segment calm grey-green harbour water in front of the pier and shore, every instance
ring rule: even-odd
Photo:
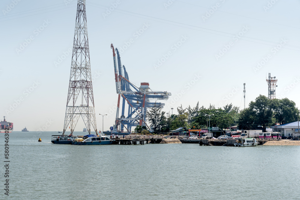
[[[52,144],[57,134],[10,133],[7,199],[300,199],[299,146]]]

